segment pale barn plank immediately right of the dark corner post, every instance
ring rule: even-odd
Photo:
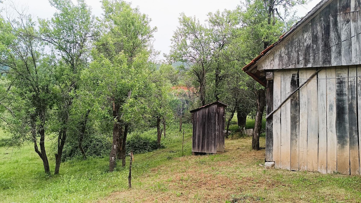
[[[281,104],[281,72],[274,72],[273,77],[273,108]],[[275,168],[280,168],[281,160],[281,109],[273,113],[273,160]]]

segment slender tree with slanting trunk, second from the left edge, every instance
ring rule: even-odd
[[[71,109],[79,87],[81,70],[87,67],[90,40],[95,36],[94,19],[83,0],[50,0],[58,12],[50,21],[40,20],[42,39],[51,46],[60,66],[56,70],[56,84],[60,91],[57,103],[58,144],[55,154],[55,174],[59,173],[61,155],[67,131],[71,125]]]

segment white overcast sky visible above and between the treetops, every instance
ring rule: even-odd
[[[5,4],[6,4],[5,0]],[[28,6],[28,14],[40,18],[51,18],[55,9],[48,0],[13,0],[18,6]],[[73,0],[75,2],[75,0]],[[101,16],[100,0],[85,0],[92,8],[92,13]],[[297,15],[304,16],[320,0],[311,0],[305,6],[296,8]],[[184,12],[188,16],[195,15],[201,22],[206,19],[206,14],[217,10],[234,9],[240,5],[239,0],[128,0],[132,7],[138,6],[142,13],[151,19],[151,26],[156,26],[154,48],[161,52],[159,59],[164,59],[163,54],[168,54],[170,39],[173,31],[177,29],[179,14]]]

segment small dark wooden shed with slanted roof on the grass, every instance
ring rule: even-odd
[[[191,110],[193,117],[192,154],[225,151],[225,107],[214,102]]]

